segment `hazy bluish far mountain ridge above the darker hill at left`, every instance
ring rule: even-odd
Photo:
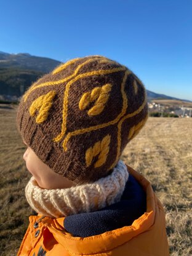
[[[0,52],[0,68],[20,68],[49,73],[61,62],[52,58],[37,57],[30,54],[7,54]]]

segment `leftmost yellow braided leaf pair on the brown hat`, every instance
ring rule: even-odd
[[[44,122],[47,119],[50,107],[52,106],[52,100],[55,97],[55,94],[55,90],[52,90],[48,92],[48,94],[44,94],[36,98],[36,100],[34,100],[31,103],[30,115],[34,116],[36,111],[39,111],[39,114],[36,117],[37,124],[41,124],[41,122]]]

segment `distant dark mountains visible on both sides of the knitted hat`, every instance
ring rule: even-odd
[[[0,99],[20,97],[39,77],[58,66],[61,62],[51,58],[37,57],[27,53],[7,54],[0,51]],[[147,91],[148,101],[180,100],[164,94]],[[190,100],[183,100],[190,102]]]

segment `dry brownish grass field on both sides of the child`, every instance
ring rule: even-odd
[[[0,255],[16,255],[32,210],[25,200],[30,175],[16,110],[0,108]],[[166,211],[170,255],[192,255],[192,118],[149,118],[122,159],[153,184]]]

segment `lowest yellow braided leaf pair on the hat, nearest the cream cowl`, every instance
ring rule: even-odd
[[[87,167],[90,166],[93,158],[98,154],[98,160],[97,162],[95,162],[94,167],[100,167],[106,162],[106,158],[110,150],[110,140],[111,136],[108,134],[101,141],[96,142],[93,147],[88,148],[88,150],[86,151]]]

